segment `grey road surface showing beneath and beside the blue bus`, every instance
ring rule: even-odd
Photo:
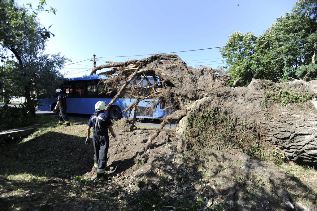
[[[0,106],[3,106],[3,103],[0,103]],[[9,104],[9,106],[13,107],[15,104]],[[17,105],[18,106],[18,105]],[[54,115],[53,111],[36,111],[36,114],[46,114],[46,115]],[[71,118],[76,118],[76,119],[83,119],[87,120],[89,119],[90,115],[86,114],[67,114]],[[141,120],[140,122],[136,122],[136,125],[139,127],[154,127],[158,128],[160,124],[160,121],[158,119],[144,119]],[[166,129],[175,129],[175,124],[168,124],[165,125]]]

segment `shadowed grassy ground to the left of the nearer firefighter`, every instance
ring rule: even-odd
[[[48,132],[19,144],[2,145],[1,210],[86,209],[93,199],[81,198],[82,187],[74,188],[76,185],[69,179],[90,172],[93,157],[93,146],[86,146],[83,137],[58,132]],[[130,168],[130,163],[125,163],[125,167]]]

